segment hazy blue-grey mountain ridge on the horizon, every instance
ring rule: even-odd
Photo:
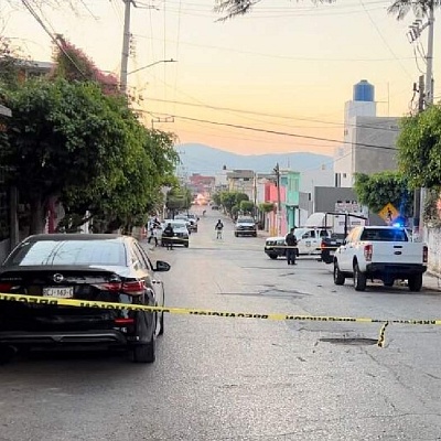
[[[180,153],[182,165],[186,173],[213,175],[225,165],[228,170],[246,169],[259,173],[270,173],[279,163],[281,169],[292,169],[299,172],[320,169],[330,164],[332,157],[306,152],[237,154],[215,149],[205,144],[184,143],[175,147]]]

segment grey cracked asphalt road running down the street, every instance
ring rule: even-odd
[[[169,306],[257,314],[437,319],[440,293],[335,287],[235,238],[207,209],[189,248],[150,250]],[[166,315],[153,365],[39,353],[0,366],[0,440],[441,440],[440,326]]]

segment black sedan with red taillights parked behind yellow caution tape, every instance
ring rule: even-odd
[[[0,292],[61,299],[164,305],[164,289],[139,243],[128,236],[30,236],[0,267]],[[135,362],[155,359],[163,313],[0,301],[1,346],[89,345],[123,347]]]

